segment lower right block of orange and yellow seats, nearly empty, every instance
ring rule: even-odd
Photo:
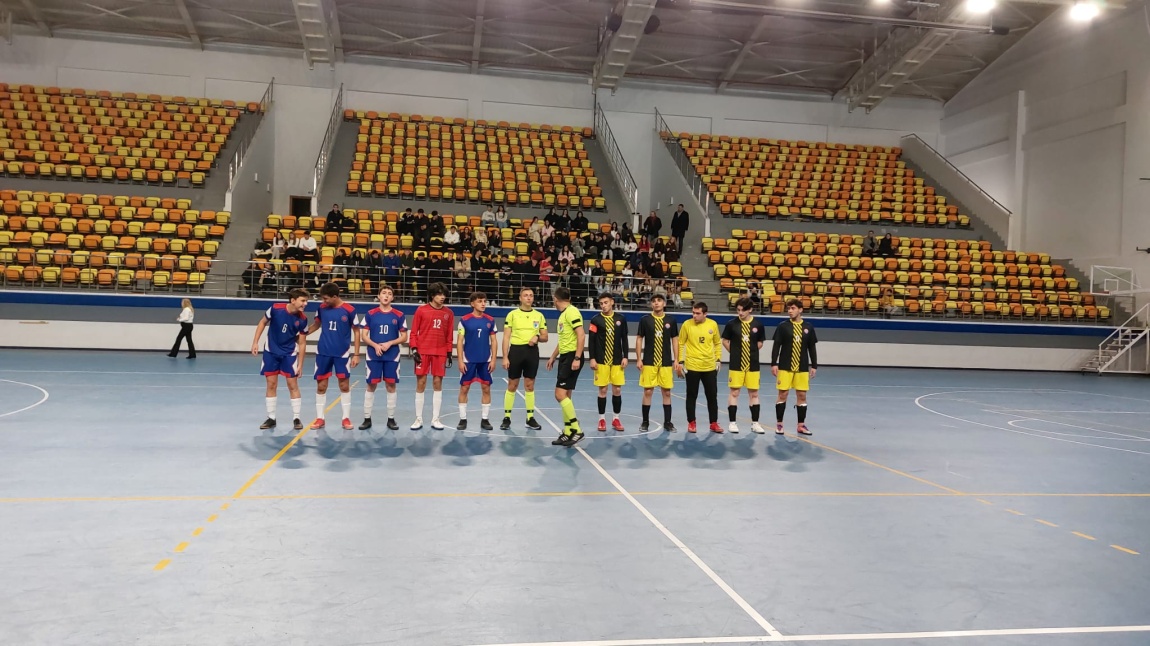
[[[775,314],[788,298],[814,312],[879,314],[890,290],[889,305],[911,316],[1111,316],[1049,255],[995,251],[986,241],[900,237],[894,255],[877,257],[862,254],[861,236],[734,230],[704,238],[702,248],[731,302],[758,284]]]

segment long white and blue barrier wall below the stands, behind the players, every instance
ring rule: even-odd
[[[155,297],[90,292],[0,292],[0,347],[167,351],[183,295]],[[195,346],[202,352],[247,352],[263,310],[274,300],[192,297]],[[350,301],[360,313],[373,303]],[[312,314],[317,301],[308,306]],[[411,316],[415,306],[397,303]],[[466,306],[452,306],[457,315]],[[489,307],[501,322],[509,308]],[[553,308],[540,308],[549,320]],[[583,310],[584,318],[593,315]],[[644,312],[623,310],[634,325]],[[689,314],[672,314],[684,321]],[[712,313],[720,328],[733,317]],[[875,366],[997,370],[1076,371],[1096,352],[1111,328],[1041,323],[808,317],[819,332],[825,366]],[[768,330],[780,321],[760,316]],[[632,328],[634,329],[634,328]],[[314,339],[312,337],[312,343]],[[555,341],[543,346],[549,354]],[[634,344],[631,344],[634,347]],[[312,351],[314,352],[314,351]],[[769,344],[762,357],[769,359]]]

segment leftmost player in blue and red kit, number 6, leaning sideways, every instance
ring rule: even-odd
[[[263,430],[276,428],[276,386],[279,375],[288,382],[291,393],[291,413],[296,430],[301,430],[299,421],[301,400],[299,397],[299,375],[304,370],[304,354],[307,348],[307,315],[304,309],[312,298],[306,290],[292,290],[288,293],[288,302],[277,302],[263,313],[263,318],[255,326],[255,338],[252,339],[252,355],[260,353],[260,337],[264,328],[268,339],[263,347],[263,368],[260,374],[267,379],[263,391],[268,418],[260,424]]]

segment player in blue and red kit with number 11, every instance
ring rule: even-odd
[[[360,337],[353,334],[355,328],[355,308],[339,298],[339,285],[327,283],[320,287],[320,299],[323,305],[315,314],[315,320],[307,328],[307,333],[320,330],[320,344],[315,354],[315,422],[312,426],[322,429],[328,408],[328,379],[335,375],[339,380],[339,402],[343,405],[344,430],[352,430],[352,393],[351,368],[359,366]],[[355,351],[352,352],[352,343]]]

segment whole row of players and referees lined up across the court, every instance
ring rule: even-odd
[[[489,420],[491,409],[492,374],[496,370],[499,353],[499,326],[496,320],[486,314],[486,297],[482,292],[469,298],[471,312],[461,316],[457,323],[455,315],[446,307],[447,290],[439,283],[428,287],[425,305],[416,308],[411,325],[405,314],[391,306],[394,298],[390,286],[379,287],[378,307],[366,315],[358,315],[355,309],[344,302],[339,295],[339,286],[329,283],[320,289],[322,303],[315,317],[308,323],[305,309],[310,294],[305,290],[293,290],[288,294],[288,302],[275,303],[264,312],[255,329],[252,340],[252,354],[261,352],[262,375],[267,380],[264,393],[268,417],[261,429],[274,429],[277,408],[277,386],[283,376],[291,395],[293,428],[302,430],[300,421],[301,398],[299,376],[302,372],[306,354],[306,339],[319,331],[319,344],[315,357],[316,382],[316,418],[310,428],[323,429],[325,425],[328,383],[335,375],[340,391],[343,407],[343,428],[352,430],[351,421],[351,368],[360,362],[362,347],[367,346],[367,392],[363,397],[363,423],[360,430],[371,428],[371,413],[375,393],[381,383],[386,392],[388,422],[391,430],[399,428],[394,420],[398,400],[397,384],[400,374],[400,347],[406,344],[415,367],[415,420],[412,430],[423,428],[424,392],[428,376],[431,377],[432,405],[431,428],[444,428],[439,420],[443,403],[443,379],[453,359],[458,361],[460,372],[459,390],[459,424],[458,429],[467,429],[467,402],[473,384],[480,384],[482,390],[482,417],[480,426],[492,430]],[[552,444],[573,446],[583,439],[583,432],[575,413],[570,395],[578,382],[583,368],[584,355],[593,371],[595,386],[598,389],[599,423],[598,430],[607,430],[606,403],[607,392],[612,391],[613,420],[611,426],[622,431],[619,418],[622,412],[622,385],[626,380],[628,366],[629,326],[627,320],[614,310],[614,298],[604,294],[599,298],[600,312],[586,325],[578,308],[570,305],[570,292],[559,287],[553,293],[554,308],[559,313],[555,323],[558,343],[546,360],[546,370],[558,367],[555,401],[564,413],[564,431]],[[540,430],[535,420],[535,379],[538,375],[542,357],[539,344],[549,339],[547,321],[543,313],[534,308],[535,293],[524,287],[520,292],[519,307],[507,313],[503,325],[503,368],[507,371],[507,390],[504,393],[504,418],[501,430],[511,429],[511,415],[514,409],[520,382],[523,382],[523,400],[527,408],[526,425]],[[751,430],[765,432],[759,423],[759,351],[767,340],[762,322],[753,316],[754,303],[743,299],[736,303],[737,317],[733,318],[720,332],[718,324],[707,317],[707,305],[692,303],[691,317],[680,325],[665,310],[666,300],[656,294],[650,301],[651,312],[644,315],[635,333],[635,363],[639,372],[639,386],[643,389],[643,421],[639,430],[650,429],[651,402],[658,387],[662,395],[662,428],[675,431],[672,422],[670,393],[674,378],[687,380],[687,422],[688,431],[696,432],[695,407],[702,385],[707,401],[710,430],[723,432],[719,425],[718,375],[722,367],[721,351],[730,355],[728,376],[728,413],[730,424],[728,431],[739,431],[736,422],[739,392],[746,390],[751,412]],[[783,416],[791,390],[796,391],[796,410],[798,414],[797,432],[811,434],[806,426],[806,393],[810,380],[818,368],[818,353],[814,328],[803,320],[803,305],[798,300],[787,303],[788,321],[780,323],[772,337],[770,372],[776,379],[777,398],[775,401],[775,432],[783,434]],[[454,351],[454,354],[453,354]]]

